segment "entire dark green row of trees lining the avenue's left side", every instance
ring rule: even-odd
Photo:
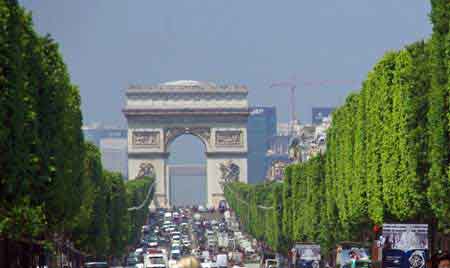
[[[127,208],[152,179],[124,183],[102,169],[58,45],[17,1],[0,0],[0,28],[0,238],[120,255],[148,213]]]

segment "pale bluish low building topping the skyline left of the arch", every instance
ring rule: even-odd
[[[92,124],[82,127],[84,139],[100,147],[100,140],[103,138],[126,138],[128,130],[117,126],[105,126],[102,124]]]

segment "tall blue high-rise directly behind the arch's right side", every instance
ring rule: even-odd
[[[267,150],[277,132],[275,107],[251,107],[247,121],[248,182],[264,181],[268,168]]]

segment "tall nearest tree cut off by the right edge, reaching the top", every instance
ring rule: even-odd
[[[445,228],[450,229],[450,177],[449,173],[449,71],[448,35],[450,3],[431,1],[433,34],[430,41],[431,91],[429,94],[428,132],[430,186],[428,198],[431,207]]]

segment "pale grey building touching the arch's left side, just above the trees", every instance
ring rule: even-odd
[[[124,178],[127,178],[127,149],[127,138],[102,138],[100,140],[100,152],[103,168],[113,172],[120,172]]]

